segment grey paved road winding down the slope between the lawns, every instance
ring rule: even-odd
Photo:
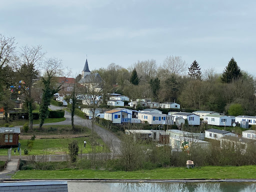
[[[51,110],[56,110],[56,109],[63,109],[64,107],[50,105],[49,108]],[[64,120],[64,121],[44,123],[43,125],[66,125],[66,124],[71,124],[71,114],[70,114],[70,112],[65,110],[64,117],[66,118],[66,120]],[[74,115],[74,124],[75,125],[86,126],[90,129],[92,129],[91,120],[83,119],[83,118],[81,118],[79,116],[76,116],[76,115]],[[94,131],[108,145],[108,147],[112,151],[112,153],[120,153],[120,143],[121,143],[121,141],[112,132],[110,132],[110,131],[108,131],[108,130],[100,127],[100,126],[97,126],[97,125],[94,125]]]

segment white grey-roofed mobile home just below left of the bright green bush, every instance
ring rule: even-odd
[[[230,116],[221,114],[207,114],[203,116],[203,120],[207,121],[207,124],[217,125],[217,126],[231,126],[232,120]]]

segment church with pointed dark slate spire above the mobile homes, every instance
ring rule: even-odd
[[[96,72],[91,74],[87,62],[87,58],[84,64],[84,67],[82,69],[81,79],[79,80],[79,83],[83,86],[85,86],[90,91],[96,91],[99,92],[102,87],[102,79],[100,75]]]

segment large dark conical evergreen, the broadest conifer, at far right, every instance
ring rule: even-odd
[[[228,62],[225,70],[222,73],[221,80],[223,82],[231,82],[233,79],[237,79],[242,75],[240,67],[237,65],[236,61],[232,57]]]

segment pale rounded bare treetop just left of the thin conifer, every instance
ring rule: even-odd
[[[163,68],[169,74],[182,75],[187,70],[186,61],[182,60],[181,56],[167,56],[163,61]]]

